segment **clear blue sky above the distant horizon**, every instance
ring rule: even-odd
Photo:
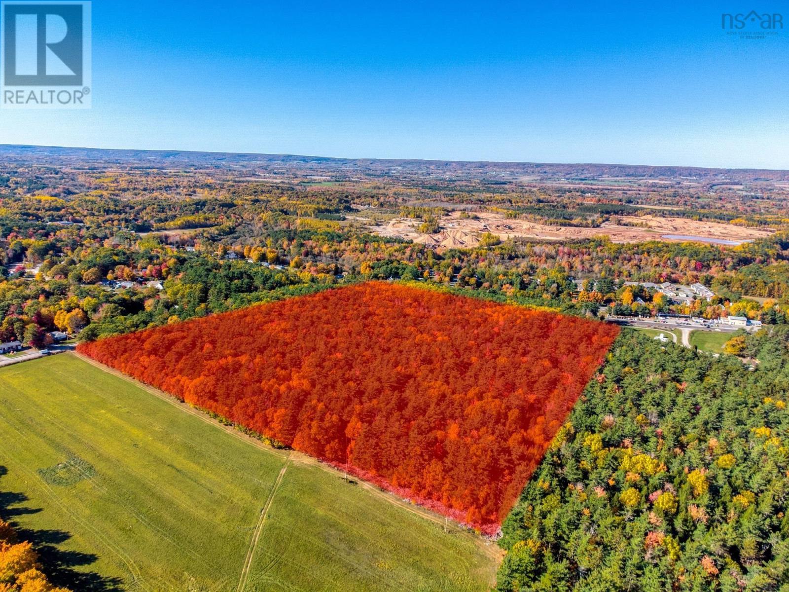
[[[789,4],[545,4],[95,0],[92,110],[0,143],[789,168]]]

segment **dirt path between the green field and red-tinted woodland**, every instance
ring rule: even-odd
[[[326,463],[321,463],[320,460],[312,458],[312,456],[305,455],[302,452],[295,451],[295,450],[278,450],[276,448],[271,448],[267,444],[264,444],[260,440],[256,440],[255,438],[246,436],[245,434],[239,432],[235,429],[232,425],[224,425],[215,419],[209,417],[203,411],[195,409],[194,407],[190,407],[189,404],[183,403],[180,399],[176,399],[172,395],[168,395],[166,392],[160,391],[158,388],[153,388],[148,384],[141,383],[139,380],[135,380],[132,377],[126,376],[122,372],[118,372],[118,370],[114,368],[110,368],[109,366],[100,364],[96,362],[92,358],[88,358],[88,356],[84,356],[83,354],[78,353],[77,351],[70,352],[83,360],[84,362],[88,362],[88,364],[94,365],[96,368],[102,369],[104,372],[108,372],[116,377],[122,378],[127,382],[135,384],[137,387],[142,388],[144,391],[151,393],[155,397],[162,399],[166,403],[169,403],[173,407],[177,407],[181,411],[185,411],[185,413],[192,414],[196,418],[199,418],[200,421],[205,422],[209,425],[213,425],[217,429],[221,429],[223,432],[230,434],[230,436],[241,440],[242,442],[246,442],[256,448],[259,448],[262,451],[267,452],[268,454],[279,456],[279,458],[286,460],[288,463],[298,463],[302,465],[310,465],[316,466],[321,470],[325,470],[337,478],[342,478],[342,472],[335,469],[335,467],[331,465],[327,465]],[[69,355],[69,354],[66,354]],[[421,518],[430,520],[433,523],[439,524],[441,526],[444,525],[446,519],[443,515],[436,514],[432,511],[429,511],[426,508],[422,508],[421,506],[417,506],[412,504],[408,500],[402,500],[398,496],[394,496],[383,489],[376,487],[376,485],[372,485],[372,483],[368,483],[367,481],[363,481],[361,479],[357,480],[357,485],[361,486],[363,489],[366,489],[370,493],[375,496],[380,497],[380,499],[387,501],[389,504],[397,506],[398,508],[402,508],[406,511],[409,511],[412,514],[416,514]],[[485,555],[491,558],[491,560],[495,561],[496,565],[498,565],[504,556],[504,550],[496,545],[493,541],[488,541],[488,539],[478,537],[475,534],[472,534],[469,530],[459,528],[455,526],[455,530],[450,530],[453,536],[465,538],[466,540],[472,541],[474,545],[477,545],[477,548],[480,549]]]

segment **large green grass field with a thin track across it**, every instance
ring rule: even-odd
[[[495,577],[468,534],[73,354],[0,369],[0,434],[0,515],[75,592],[462,592]]]

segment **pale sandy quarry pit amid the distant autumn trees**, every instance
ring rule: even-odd
[[[657,216],[621,216],[630,223],[641,223],[647,227],[622,226],[615,223],[604,223],[597,228],[558,227],[533,223],[527,220],[506,219],[501,214],[481,212],[478,219],[463,219],[460,212],[452,212],[440,220],[441,231],[438,234],[422,234],[417,231],[418,220],[398,218],[370,227],[370,230],[381,236],[406,238],[424,245],[440,247],[473,247],[479,244],[479,237],[484,232],[497,234],[499,238],[538,238],[542,240],[568,240],[574,238],[592,238],[607,235],[612,242],[644,242],[663,240],[682,242],[692,238],[706,239],[702,242],[719,242],[720,244],[739,244],[764,238],[774,230],[761,228],[739,227],[733,224],[716,222],[699,222],[684,218],[662,218]],[[688,238],[667,238],[676,235]]]

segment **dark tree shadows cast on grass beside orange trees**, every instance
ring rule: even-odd
[[[8,470],[0,465],[0,478]],[[2,485],[0,485],[2,487]],[[42,530],[24,528],[19,522],[20,516],[36,514],[42,508],[31,508],[28,496],[24,493],[14,493],[0,490],[0,518],[6,520],[17,531],[20,541],[30,541],[39,554],[43,571],[51,583],[56,586],[65,586],[74,592],[121,592],[123,581],[119,578],[107,578],[93,571],[83,571],[77,568],[93,564],[98,556],[93,553],[82,553],[61,549],[60,545],[71,538],[65,530]]]

